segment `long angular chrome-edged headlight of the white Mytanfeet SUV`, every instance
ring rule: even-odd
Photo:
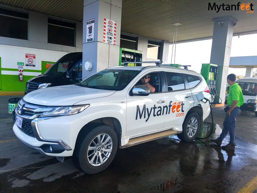
[[[52,117],[52,116],[67,116],[74,115],[84,111],[90,105],[75,105],[75,106],[57,106],[53,108],[48,108],[48,111],[43,112],[39,117]],[[44,111],[44,110],[43,110]]]

